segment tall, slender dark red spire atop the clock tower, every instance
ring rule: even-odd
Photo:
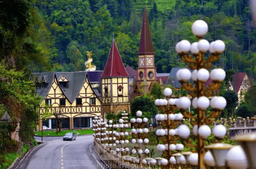
[[[143,22],[141,28],[141,40],[139,42],[138,54],[155,54],[151,39],[146,7],[144,7]]]

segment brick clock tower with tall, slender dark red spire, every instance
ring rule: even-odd
[[[156,82],[155,51],[151,39],[147,10],[144,7],[141,39],[139,42],[138,67],[136,86],[143,86],[145,92],[150,90],[153,82]],[[147,83],[145,83],[147,82]]]

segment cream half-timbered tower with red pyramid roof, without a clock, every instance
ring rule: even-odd
[[[109,57],[101,76],[103,117],[106,113],[130,111],[129,75],[113,39]]]

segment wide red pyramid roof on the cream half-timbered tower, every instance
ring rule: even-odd
[[[129,77],[114,39],[109,51],[109,57],[107,58],[105,69],[101,77]]]

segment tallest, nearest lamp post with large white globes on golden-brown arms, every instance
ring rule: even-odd
[[[203,36],[208,32],[208,25],[202,20],[197,20],[192,25],[192,32],[198,37],[198,42],[192,44],[187,40],[182,40],[177,43],[175,49],[179,54],[182,61],[189,64],[189,68],[193,69],[192,73],[189,69],[180,69],[176,77],[181,83],[181,86],[185,90],[190,91],[190,96],[194,98],[192,100],[192,106],[197,110],[197,117],[191,116],[190,112],[186,110],[190,107],[191,102],[189,98],[181,97],[177,101],[177,107],[183,113],[185,118],[195,119],[191,121],[193,126],[197,125],[198,129],[198,168],[204,169],[204,155],[205,155],[205,139],[210,135],[209,127],[207,125],[212,124],[213,119],[221,114],[226,106],[226,100],[223,97],[213,97],[212,91],[217,90],[221,82],[225,79],[226,73],[223,69],[213,69],[211,73],[207,69],[212,67],[212,62],[217,61],[225,49],[225,44],[221,40],[216,40],[209,43],[206,39],[202,39]],[[208,58],[205,55],[208,53]],[[191,54],[189,54],[189,52]],[[192,77],[194,86],[188,83]],[[209,77],[213,80],[209,88],[205,88],[204,84],[208,81]],[[214,111],[211,112],[210,116],[206,116],[206,108],[212,106]],[[187,130],[180,130],[185,132]],[[211,130],[210,130],[211,132]],[[186,145],[189,145],[184,141]]]

